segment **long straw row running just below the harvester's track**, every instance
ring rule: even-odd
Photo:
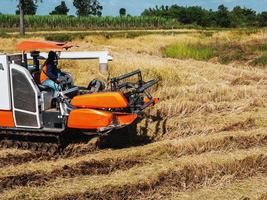
[[[17,176],[32,172],[51,173],[54,170],[62,169],[65,165],[73,166],[77,163],[105,160],[146,160],[159,159],[161,156],[169,155],[181,157],[191,154],[201,154],[209,151],[232,151],[267,143],[267,134],[264,129],[253,131],[220,132],[208,136],[191,136],[184,139],[165,140],[153,143],[144,147],[129,148],[127,151],[110,150],[93,155],[84,155],[78,158],[64,158],[56,161],[40,161],[22,163],[16,166],[4,167],[0,171],[0,178],[7,176]]]

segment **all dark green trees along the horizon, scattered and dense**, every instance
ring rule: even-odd
[[[35,15],[38,0],[20,0],[23,3],[24,15]],[[45,0],[39,0],[45,1]],[[77,16],[102,16],[103,6],[98,0],[73,0]],[[51,11],[50,15],[67,15],[69,8],[65,1]],[[20,9],[16,10],[20,14]],[[119,10],[120,16],[126,16],[126,9]],[[171,6],[156,6],[145,9],[142,16],[162,17],[175,19],[180,24],[195,24],[203,27],[263,27],[267,26],[267,12],[257,13],[255,10],[236,6],[229,10],[224,5],[220,5],[216,11],[207,10],[200,6],[183,7],[177,4]]]

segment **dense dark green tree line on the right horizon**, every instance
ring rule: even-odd
[[[158,16],[175,19],[181,24],[195,24],[202,27],[263,27],[267,26],[267,12],[236,6],[229,10],[220,5],[216,11],[200,6],[156,6],[145,9],[142,16]]]

